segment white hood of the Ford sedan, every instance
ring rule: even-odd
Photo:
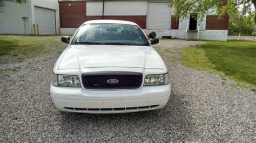
[[[132,67],[164,69],[159,54],[149,46],[69,45],[58,69]]]

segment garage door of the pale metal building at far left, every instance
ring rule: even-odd
[[[39,34],[56,34],[55,11],[35,6],[35,24],[38,24]]]

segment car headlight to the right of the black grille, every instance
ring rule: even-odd
[[[169,74],[146,75],[144,86],[150,85],[166,85],[170,83]]]

